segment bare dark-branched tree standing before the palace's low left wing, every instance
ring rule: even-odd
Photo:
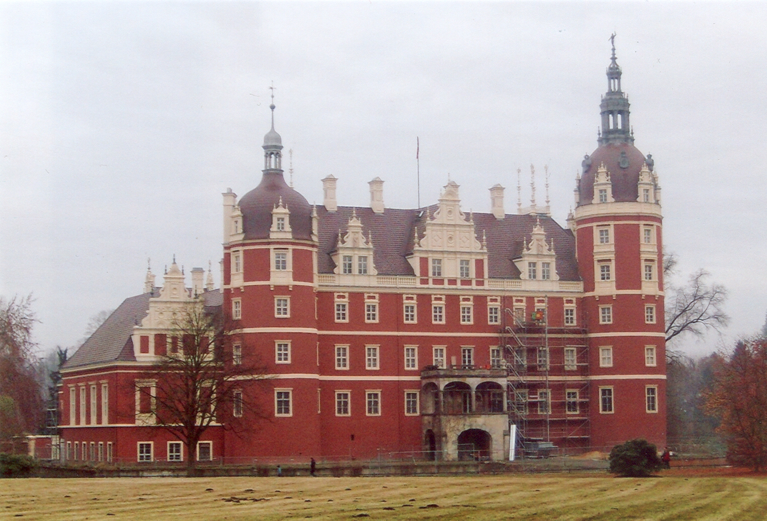
[[[235,338],[220,310],[206,309],[197,298],[176,312],[166,352],[136,381],[137,418],[183,442],[189,476],[195,474],[196,447],[209,427],[217,424],[240,434],[262,419],[258,395],[265,368],[232,353]]]

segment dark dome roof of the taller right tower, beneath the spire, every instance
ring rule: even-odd
[[[625,156],[628,165],[621,167],[621,156]],[[636,201],[639,196],[637,183],[639,182],[639,171],[645,162],[644,154],[637,150],[637,147],[628,143],[609,143],[598,147],[589,157],[591,165],[582,176],[580,184],[580,203],[591,204],[594,199],[594,176],[597,175],[597,169],[604,163],[607,172],[610,173],[610,179],[613,182],[613,199],[616,202]]]

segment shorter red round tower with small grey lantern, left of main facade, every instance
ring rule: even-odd
[[[223,194],[222,272],[223,310],[234,329],[232,362],[271,378],[243,382],[253,386],[259,407],[243,422],[248,436],[231,436],[227,444],[253,456],[317,455],[317,214],[285,183],[273,95],[269,107],[261,183],[239,202],[231,190]]]

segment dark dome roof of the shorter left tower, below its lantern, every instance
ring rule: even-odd
[[[266,170],[258,184],[240,199],[242,228],[245,239],[268,239],[272,228],[272,209],[279,203],[290,210],[290,226],[294,239],[311,239],[311,205],[293,190],[282,177],[281,170]]]

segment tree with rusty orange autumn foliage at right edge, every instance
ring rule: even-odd
[[[731,463],[767,467],[767,339],[739,341],[731,354],[716,355],[706,412],[721,422]]]

